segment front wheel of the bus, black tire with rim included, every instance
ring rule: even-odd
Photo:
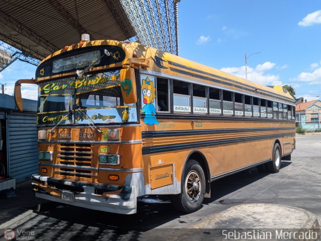
[[[200,164],[190,159],[185,167],[181,181],[181,193],[172,196],[173,206],[181,212],[191,213],[199,210],[205,195],[205,175]]]

